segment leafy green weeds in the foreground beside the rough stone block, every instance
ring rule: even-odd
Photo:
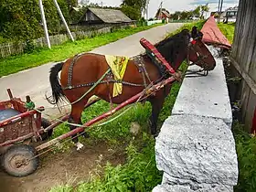
[[[102,177],[93,177],[91,182],[80,184],[76,191],[150,191],[161,182],[162,173],[155,167],[155,141],[143,134],[140,151],[133,141],[126,148],[127,163],[124,165],[105,165]]]

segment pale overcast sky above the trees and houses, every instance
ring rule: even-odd
[[[194,9],[197,5],[205,5],[209,3],[210,11],[218,10],[219,0],[149,0],[149,17],[154,17],[156,10],[158,9],[161,1],[163,1],[163,7],[169,10],[171,13],[175,11],[183,11]],[[91,0],[91,3],[98,3],[101,5],[112,5],[119,6],[122,3],[122,0]],[[239,4],[239,0],[223,0],[223,9],[230,6],[235,6]]]

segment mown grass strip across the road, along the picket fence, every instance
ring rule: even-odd
[[[112,33],[102,34],[96,37],[87,37],[75,42],[66,42],[62,45],[54,46],[51,49],[40,48],[29,54],[22,54],[18,56],[11,56],[6,59],[0,59],[0,77],[16,73],[24,69],[37,67],[48,62],[67,59],[80,52],[90,51],[93,48],[103,46],[120,38],[127,37],[159,25],[162,24],[156,24],[150,27],[144,26],[119,29]]]

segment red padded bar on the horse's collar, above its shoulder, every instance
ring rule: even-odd
[[[151,53],[155,55],[155,58],[159,59],[162,64],[170,71],[170,73],[175,74],[176,71],[173,69],[170,64],[165,60],[165,58],[159,53],[159,51],[152,45],[148,40],[142,38],[140,40],[141,45],[146,49],[149,50]]]

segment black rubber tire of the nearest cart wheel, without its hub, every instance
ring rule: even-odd
[[[10,160],[16,155],[22,155],[27,159],[31,159],[32,157],[37,155],[37,150],[33,146],[30,146],[27,144],[15,144],[15,145],[12,145],[10,148],[8,148],[8,150],[3,155],[3,158],[2,158],[2,165],[7,174],[9,174],[10,176],[21,177],[21,176],[28,176],[37,170],[37,167],[39,164],[38,156],[31,159],[25,169],[19,169],[19,168],[13,167],[10,164]]]

